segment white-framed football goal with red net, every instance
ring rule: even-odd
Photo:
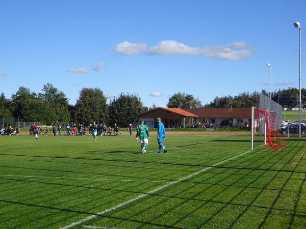
[[[254,110],[257,110],[258,117],[254,117]],[[259,107],[251,107],[251,150],[253,150],[254,133],[256,121],[264,122],[264,145],[268,140],[272,150],[282,150],[286,147],[281,134],[278,133],[278,116],[276,111],[269,111]],[[260,117],[262,116],[262,118]]]

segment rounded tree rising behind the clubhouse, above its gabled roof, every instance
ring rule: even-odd
[[[199,99],[195,99],[193,95],[185,95],[185,93],[175,93],[173,96],[169,98],[167,103],[167,107],[174,108],[193,108],[193,107],[201,107],[202,104]]]

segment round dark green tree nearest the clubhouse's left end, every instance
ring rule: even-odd
[[[138,115],[143,111],[143,105],[136,94],[121,93],[110,101],[109,112],[111,123],[127,126],[138,122]]]

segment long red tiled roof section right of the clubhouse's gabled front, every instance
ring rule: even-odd
[[[182,108],[203,118],[251,118],[251,108]],[[257,110],[254,110],[256,117]]]

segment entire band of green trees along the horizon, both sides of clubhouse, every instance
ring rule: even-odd
[[[301,90],[302,107],[306,106],[306,89]],[[213,101],[202,105],[193,95],[177,92],[169,97],[167,106],[175,108],[194,107],[251,107],[259,106],[260,94],[269,96],[265,90],[261,92],[240,93],[238,96],[215,97]],[[271,93],[271,98],[283,107],[292,108],[298,104],[298,90],[295,88],[283,89]],[[0,95],[0,117],[19,117],[20,121],[83,123],[92,122],[114,124],[121,126],[138,122],[138,115],[156,108],[143,105],[137,94],[121,93],[107,102],[103,91],[98,88],[83,88],[74,105],[69,104],[66,95],[46,83],[40,93],[20,87],[18,91],[6,98]]]

